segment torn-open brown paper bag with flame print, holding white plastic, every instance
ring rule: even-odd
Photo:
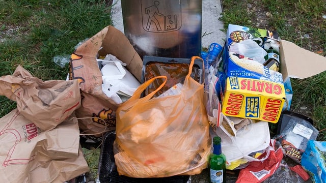
[[[69,78],[80,83],[82,107],[76,110],[79,127],[88,133],[115,130],[118,104],[102,92],[102,74],[96,56],[113,54],[126,63],[128,71],[141,81],[143,61],[129,40],[113,26],[103,28],[99,33],[80,45],[72,54],[69,63]],[[89,117],[99,117],[89,118]]]

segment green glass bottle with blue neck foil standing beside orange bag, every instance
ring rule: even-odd
[[[210,156],[210,182],[226,182],[226,157],[222,153],[221,137],[213,138],[213,154]]]

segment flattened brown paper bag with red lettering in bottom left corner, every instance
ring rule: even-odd
[[[42,131],[17,109],[0,118],[2,182],[64,182],[89,170],[74,113]]]

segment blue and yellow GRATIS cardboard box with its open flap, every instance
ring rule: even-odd
[[[223,55],[222,112],[228,116],[252,118],[277,123],[282,110],[289,110],[292,101],[290,77],[306,78],[326,69],[326,59],[295,44],[280,40],[280,75],[257,63],[247,66],[248,57],[230,54],[229,46],[234,42],[273,34],[258,28],[229,24]],[[274,35],[275,36],[275,35]],[[275,37],[275,39],[278,39]],[[309,62],[308,62],[309,60]],[[315,64],[312,66],[311,62]],[[250,66],[250,67],[248,67]]]

